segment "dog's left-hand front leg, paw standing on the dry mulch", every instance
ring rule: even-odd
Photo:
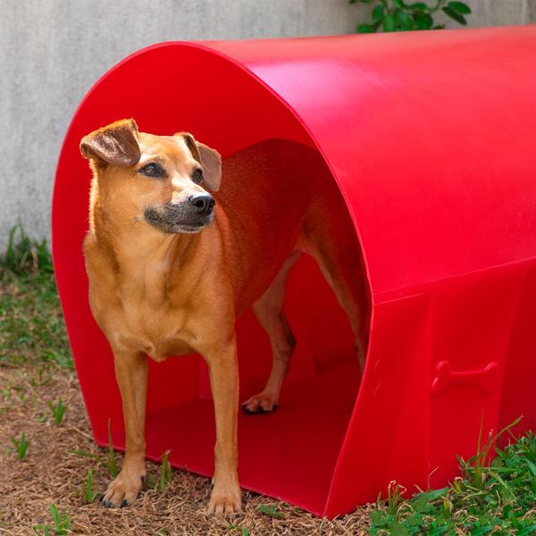
[[[105,507],[125,507],[138,496],[146,475],[147,357],[124,351],[114,351],[113,356],[121,391],[126,445],[121,472],[110,482],[102,501]]]

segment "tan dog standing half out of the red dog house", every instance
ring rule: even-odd
[[[134,500],[146,473],[146,356],[197,352],[208,364],[216,420],[208,510],[235,512],[235,320],[253,306],[270,337],[272,373],[244,409],[271,411],[295,344],[282,310],[285,284],[302,253],[314,256],[347,311],[363,364],[367,297],[348,211],[321,157],[294,142],[269,140],[231,155],[223,180],[214,149],[187,132],[138,132],[133,120],[91,132],[80,150],[93,171],[89,301],[113,349],[126,429],[124,463],[105,506]],[[207,190],[218,192],[215,200]]]

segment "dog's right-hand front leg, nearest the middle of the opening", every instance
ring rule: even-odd
[[[238,409],[239,370],[236,342],[214,349],[206,356],[214,398],[216,445],[214,448],[214,488],[208,512],[233,514],[240,510]]]

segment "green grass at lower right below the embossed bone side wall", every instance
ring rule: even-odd
[[[401,498],[391,482],[386,501],[372,513],[371,534],[489,534],[536,532],[536,437],[527,432],[504,449],[497,440],[519,423],[516,419],[482,445],[482,424],[476,454],[459,460],[462,476],[440,490]],[[496,456],[490,463],[492,449]]]

